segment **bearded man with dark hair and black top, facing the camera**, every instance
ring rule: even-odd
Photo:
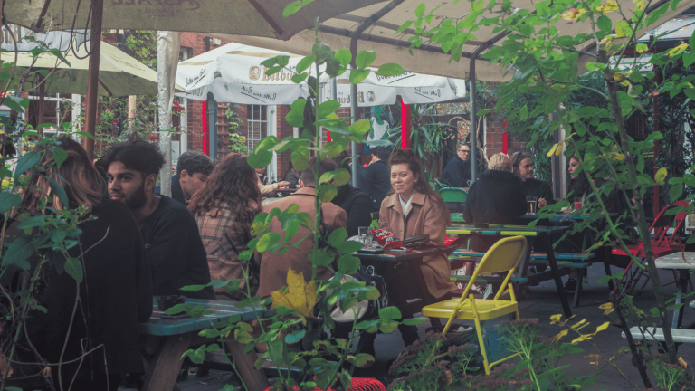
[[[154,144],[132,139],[111,148],[101,164],[107,172],[109,197],[130,207],[145,240],[155,295],[183,294],[214,299],[212,287],[181,291],[210,282],[203,241],[194,216],[174,199],[156,196],[157,174],[164,155]]]

